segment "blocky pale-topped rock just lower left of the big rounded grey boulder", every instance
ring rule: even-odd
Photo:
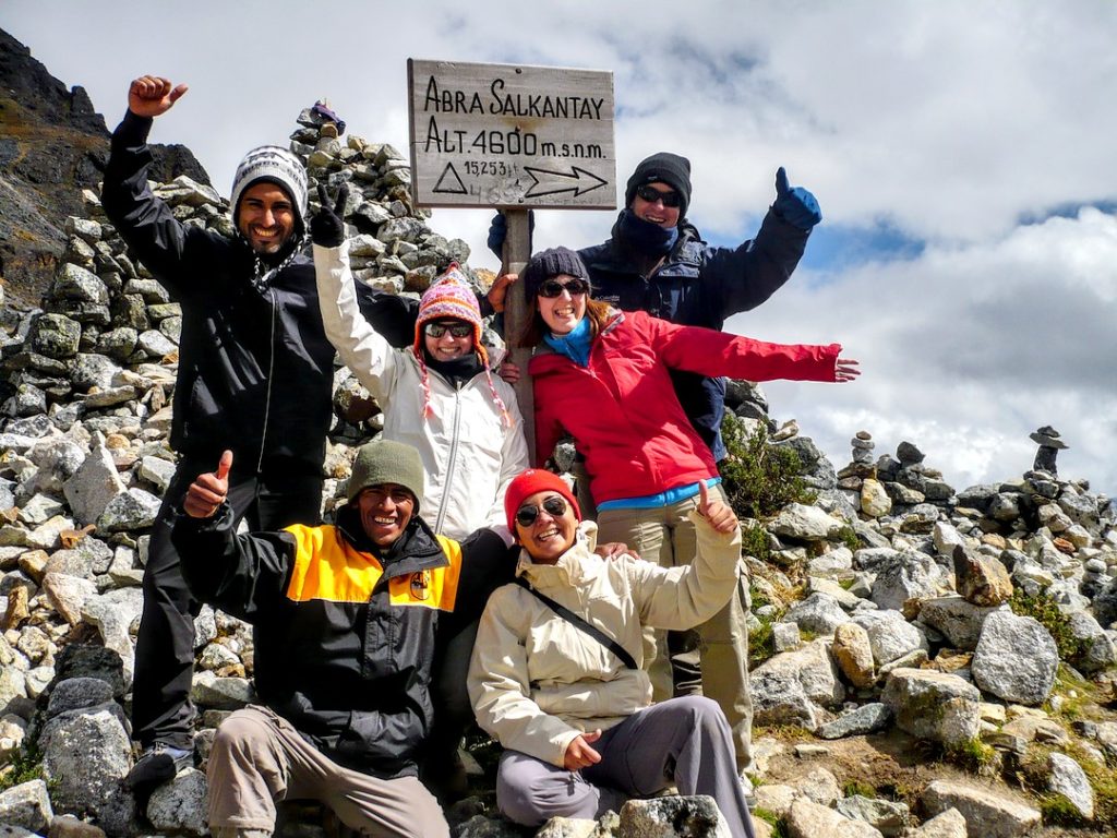
[[[881,701],[896,726],[919,739],[956,745],[974,739],[981,725],[981,693],[957,675],[894,669]]]

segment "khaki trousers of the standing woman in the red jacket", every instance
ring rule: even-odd
[[[720,486],[712,488],[710,496],[726,501]],[[599,512],[598,541],[624,542],[641,559],[661,568],[690,564],[698,536],[689,513],[697,505],[694,497],[653,510]],[[733,729],[741,769],[752,762],[748,607],[748,578],[742,572],[733,598],[703,625],[686,631],[645,630],[643,668],[651,678],[655,699],[700,694],[716,701]]]

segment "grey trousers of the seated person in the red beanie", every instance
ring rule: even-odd
[[[517,823],[537,827],[554,817],[600,818],[610,809],[620,811],[629,798],[674,784],[679,794],[709,794],[733,838],[753,838],[729,725],[709,698],[653,704],[610,727],[592,747],[601,762],[574,772],[505,751],[497,807]]]

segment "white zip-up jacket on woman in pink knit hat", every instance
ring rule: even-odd
[[[361,315],[349,244],[315,245],[314,267],[326,336],[384,411],[384,438],[419,450],[427,480],[420,505],[423,520],[451,539],[489,526],[512,544],[504,494],[527,468],[524,419],[515,391],[494,373],[509,427],[502,421],[484,372],[456,389],[428,368],[431,416],[424,417],[422,373],[414,353],[391,346]]]

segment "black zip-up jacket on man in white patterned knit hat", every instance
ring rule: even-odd
[[[184,227],[147,187],[152,120],[128,112],[112,139],[102,204],[182,306],[171,446],[257,474],[317,476],[331,421],[334,347],[314,264],[259,264],[241,239]]]

